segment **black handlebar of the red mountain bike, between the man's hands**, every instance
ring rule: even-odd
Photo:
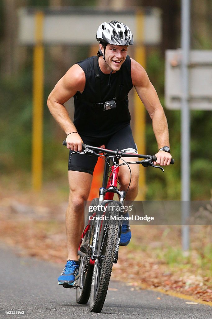
[[[63,145],[66,146],[66,140],[63,141]],[[91,145],[87,145],[87,144],[82,144],[82,150],[85,150],[86,148],[92,150],[92,151],[97,151],[100,153],[107,153],[110,155],[114,155],[117,157],[138,157],[138,158],[142,158],[142,159],[150,159],[153,162],[157,161],[157,157],[155,155],[142,155],[142,154],[136,154],[136,153],[125,153],[123,151],[112,151],[112,150],[107,150],[106,148],[102,148],[102,147],[96,147],[96,146],[91,146]],[[171,164],[174,164],[174,159],[171,159]]]

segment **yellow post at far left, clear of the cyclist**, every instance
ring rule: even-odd
[[[35,46],[33,52],[32,186],[34,190],[41,189],[43,173],[43,20],[43,12],[37,12],[35,14]]]

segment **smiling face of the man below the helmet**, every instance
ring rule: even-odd
[[[104,47],[100,44],[100,49],[102,53],[104,52]],[[122,64],[127,57],[127,45],[113,45],[108,44],[105,50],[105,65],[104,67],[108,72],[111,70],[119,71]]]

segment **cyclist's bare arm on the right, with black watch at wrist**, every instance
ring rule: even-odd
[[[158,143],[158,148],[169,146],[169,133],[166,115],[160,104],[154,86],[150,82],[144,68],[135,60],[131,59],[131,78],[139,98],[152,119],[152,128]],[[156,153],[157,164],[169,165],[171,155],[164,151]]]

